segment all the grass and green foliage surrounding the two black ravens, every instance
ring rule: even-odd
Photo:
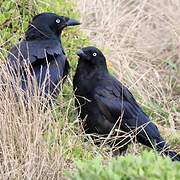
[[[96,44],[110,61],[110,71],[180,152],[179,7],[179,0],[0,0],[0,75],[6,74],[7,51],[23,39],[35,14],[54,12],[82,22],[62,35],[72,68],[52,108],[39,110],[37,96],[27,110],[21,89],[17,103],[1,84],[1,179],[180,179],[178,163],[141,145],[132,144],[118,159],[109,147],[94,146],[74,123],[72,91],[76,50]]]

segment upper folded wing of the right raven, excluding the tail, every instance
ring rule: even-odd
[[[141,110],[130,91],[112,76],[95,89],[94,98],[111,121],[116,121],[122,114],[125,119],[136,118]]]

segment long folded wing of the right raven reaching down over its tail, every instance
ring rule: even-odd
[[[121,121],[121,130],[129,132],[134,130],[137,139],[144,145],[152,147],[151,141],[156,141],[164,145],[164,140],[155,124],[142,111],[136,100],[118,80],[111,77],[111,83],[102,85],[95,89],[94,98],[101,113],[109,121],[116,123]]]

